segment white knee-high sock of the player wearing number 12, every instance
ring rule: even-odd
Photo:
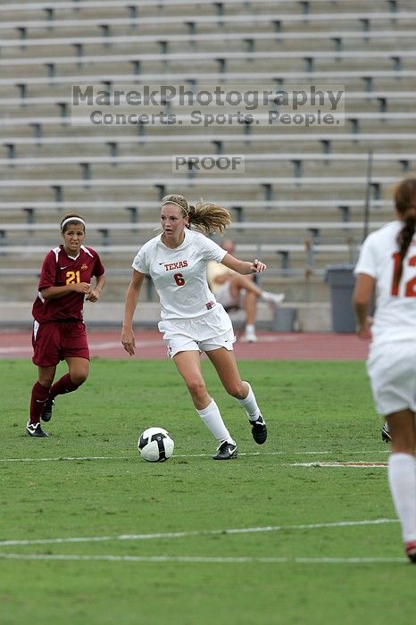
[[[416,540],[416,470],[411,454],[391,454],[388,486],[402,524],[404,542]]]

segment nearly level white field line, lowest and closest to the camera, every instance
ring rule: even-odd
[[[268,563],[268,564],[379,564],[404,563],[407,558],[259,558],[244,557],[205,557],[188,555],[79,555],[79,554],[5,554],[0,552],[1,560],[61,560],[64,562],[208,562],[208,563]]]

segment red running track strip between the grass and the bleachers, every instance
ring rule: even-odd
[[[92,356],[130,358],[123,350],[119,330],[88,330]],[[135,358],[167,358],[157,330],[136,332]],[[240,360],[365,360],[369,344],[354,334],[333,332],[259,332],[257,343],[235,344]],[[0,358],[31,358],[30,331],[0,331]]]

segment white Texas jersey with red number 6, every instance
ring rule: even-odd
[[[222,261],[227,252],[195,230],[186,229],[183,243],[174,249],[161,237],[145,243],[132,267],[153,279],[162,319],[194,319],[220,306],[208,287],[206,265]]]

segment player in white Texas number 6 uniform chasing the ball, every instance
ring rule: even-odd
[[[214,460],[237,458],[237,445],[217,404],[207,393],[201,372],[201,352],[211,360],[225,390],[244,408],[254,441],[262,445],[267,438],[266,424],[254,392],[237,369],[229,315],[215,301],[206,279],[206,266],[210,261],[222,262],[242,274],[266,269],[257,259],[254,262],[238,260],[205,237],[210,233],[222,234],[230,221],[229,212],[217,204],[202,200],[189,204],[185,197],[177,195],[162,199],[162,234],[147,241],[133,261],[121,332],[124,349],[130,355],[135,354],[133,316],[143,281],[149,275],[160,298],[159,329],[168,354],[185,380],[196,412],[219,443]]]

